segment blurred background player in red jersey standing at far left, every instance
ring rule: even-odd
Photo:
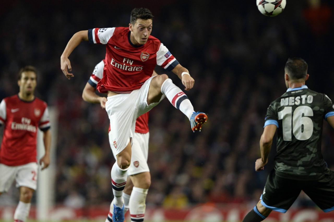
[[[14,180],[20,190],[20,201],[14,221],[26,221],[30,201],[37,187],[37,127],[43,132],[45,154],[39,160],[42,170],[50,164],[50,120],[47,105],[34,96],[37,72],[33,66],[19,71],[20,92],[0,103],[0,125],[4,125],[0,150],[0,195]]]

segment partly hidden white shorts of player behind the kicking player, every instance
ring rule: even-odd
[[[116,149],[114,148],[111,138],[111,132],[109,132],[109,142],[111,150],[113,151],[116,160]],[[132,147],[131,147],[131,164],[127,171],[128,175],[135,175],[143,172],[150,172],[147,165],[148,157],[148,140],[150,133],[135,133]]]

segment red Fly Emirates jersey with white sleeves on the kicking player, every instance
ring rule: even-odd
[[[139,89],[152,76],[156,65],[171,71],[179,62],[159,39],[150,36],[144,45],[130,41],[128,27],[88,30],[90,43],[106,45],[103,78],[97,84],[101,93],[129,93]]]

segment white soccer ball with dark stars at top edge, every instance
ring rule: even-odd
[[[286,0],[256,0],[259,11],[266,16],[281,14],[286,4]]]

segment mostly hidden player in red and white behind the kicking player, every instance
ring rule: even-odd
[[[82,98],[86,102],[99,103],[101,108],[106,108],[107,98],[97,95],[96,86],[103,77],[103,69],[105,66],[105,60],[99,62],[88,80],[85,88],[82,91]],[[153,72],[153,75],[157,75]],[[137,220],[144,218],[146,196],[148,189],[151,185],[151,174],[147,164],[148,158],[148,142],[149,142],[149,127],[148,127],[149,112],[139,116],[136,120],[136,129],[133,137],[131,147],[131,164],[127,171],[128,179],[123,190],[124,199],[124,214],[130,209],[130,216],[136,215]],[[109,143],[111,150],[114,154],[115,160],[117,149],[114,147],[114,140],[109,126]],[[144,205],[145,206],[145,205]],[[105,222],[112,221],[114,205],[113,202],[110,206],[110,212],[108,213]],[[139,216],[138,216],[139,215]]]

